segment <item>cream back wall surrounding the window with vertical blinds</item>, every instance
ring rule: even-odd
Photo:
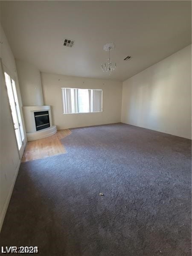
[[[120,122],[122,82],[41,73],[44,104],[52,107],[52,122],[58,129]],[[102,89],[103,112],[63,114],[61,87]]]

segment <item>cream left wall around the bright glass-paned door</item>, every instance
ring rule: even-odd
[[[6,84],[3,74],[3,67],[9,70],[9,73],[14,77],[17,87],[17,96],[20,103],[21,97],[18,86],[17,72],[15,59],[9,47],[6,35],[0,24],[0,229],[3,224],[3,219],[9,200],[12,194],[12,189],[15,184],[17,172],[20,166],[20,156],[17,149],[17,141],[15,130],[12,122],[12,115],[7,96]],[[2,64],[3,62],[3,64]],[[22,110],[21,110],[22,111]],[[22,112],[21,112],[22,113]],[[23,120],[23,116],[22,116]]]

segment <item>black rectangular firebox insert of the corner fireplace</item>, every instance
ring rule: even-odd
[[[36,131],[50,127],[49,111],[34,112]]]

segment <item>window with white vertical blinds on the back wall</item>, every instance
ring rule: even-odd
[[[102,112],[102,90],[61,88],[63,113]]]

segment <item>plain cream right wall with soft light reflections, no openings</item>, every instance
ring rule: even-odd
[[[191,45],[123,82],[121,121],[191,138]]]

